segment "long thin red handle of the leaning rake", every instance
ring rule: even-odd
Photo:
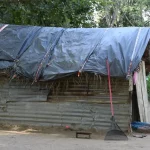
[[[113,102],[112,102],[112,91],[111,91],[111,82],[110,82],[110,66],[109,66],[108,59],[106,60],[106,64],[107,64],[107,73],[108,73],[110,109],[111,109],[112,116],[114,116],[114,107],[113,107]]]

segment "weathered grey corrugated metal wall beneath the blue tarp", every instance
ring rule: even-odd
[[[0,122],[107,130],[110,104],[107,77],[85,74],[31,85],[28,79],[0,78]],[[128,130],[128,81],[112,78],[116,120]]]

